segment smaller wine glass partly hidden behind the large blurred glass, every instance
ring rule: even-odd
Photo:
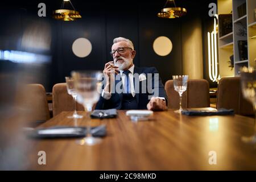
[[[72,116],[68,116],[68,118],[82,118],[82,115],[77,114],[76,112],[76,98],[77,98],[77,93],[76,89],[74,86],[74,79],[72,77],[65,77],[66,83],[67,83],[67,90],[68,94],[73,97],[73,100],[75,102],[75,111]]]

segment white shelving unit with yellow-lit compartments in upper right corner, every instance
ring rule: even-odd
[[[238,16],[238,6],[246,3],[246,14]],[[256,19],[254,9],[256,0],[218,0],[218,14],[229,14],[232,12],[233,32],[218,38],[218,58],[220,76],[238,76],[243,66],[254,67],[256,60]],[[239,41],[246,41],[246,56],[240,55]],[[244,52],[245,52],[244,51]],[[229,68],[229,57],[234,55],[234,69]]]

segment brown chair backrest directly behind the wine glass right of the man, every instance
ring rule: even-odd
[[[168,96],[168,108],[179,108],[179,94],[174,90],[174,81],[168,80],[164,89]],[[209,82],[204,79],[188,80],[187,91],[183,93],[181,106],[183,108],[209,107]]]

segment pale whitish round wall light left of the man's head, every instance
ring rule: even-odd
[[[77,57],[86,57],[92,52],[92,44],[88,39],[78,38],[73,42],[72,51]]]

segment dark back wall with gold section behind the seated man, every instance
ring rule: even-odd
[[[38,16],[40,2],[46,4],[46,17]],[[51,92],[52,86],[65,82],[65,76],[72,70],[103,70],[104,64],[112,60],[109,52],[113,39],[123,36],[134,43],[135,65],[156,67],[163,84],[172,75],[186,74],[189,78],[205,78],[210,87],[217,87],[217,83],[209,79],[207,49],[207,32],[213,29],[208,6],[217,3],[216,0],[177,0],[176,6],[187,9],[187,15],[175,19],[157,16],[165,0],[73,0],[82,18],[71,22],[52,18],[52,11],[59,9],[62,2],[5,1],[1,4],[2,57],[3,51],[23,53],[21,60],[0,60],[2,73],[19,77],[18,72],[22,71],[26,82],[43,84],[46,92]],[[153,49],[154,40],[159,36],[166,36],[172,42],[172,51],[166,56],[157,55]],[[86,38],[92,44],[92,51],[86,57],[77,57],[72,52],[72,44],[78,38]],[[31,58],[33,56],[36,58]]]

